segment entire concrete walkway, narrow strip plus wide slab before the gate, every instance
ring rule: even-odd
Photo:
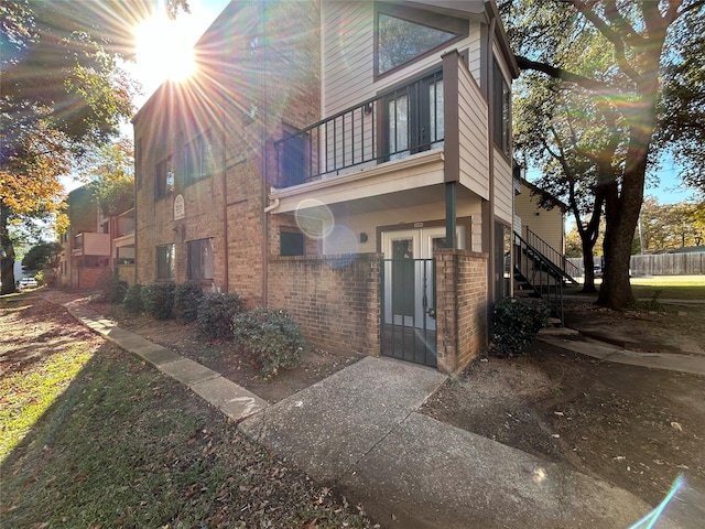
[[[110,342],[242,421],[243,434],[361,503],[384,528],[627,528],[651,510],[606,482],[419,413],[446,380],[434,369],[366,357],[268,407],[218,373],[85,306],[65,306]],[[688,520],[699,519],[661,520],[654,527],[695,528],[699,525]]]

